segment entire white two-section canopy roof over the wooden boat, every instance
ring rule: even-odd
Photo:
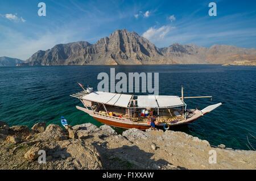
[[[94,91],[90,94],[82,96],[82,99],[89,100],[90,102],[128,108],[130,107],[130,102],[131,99],[133,99],[133,95]],[[185,103],[179,98],[179,96],[172,95],[138,95],[136,100],[137,104],[135,107],[137,108],[167,108],[185,106]]]

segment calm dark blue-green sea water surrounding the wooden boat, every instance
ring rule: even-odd
[[[112,66],[51,66],[0,68],[0,120],[10,125],[32,126],[36,122],[60,124],[65,116],[72,125],[93,123],[92,117],[76,110],[79,100],[69,96],[81,91],[76,82],[96,89],[97,75]],[[116,73],[159,72],[160,95],[212,95],[210,99],[187,99],[188,108],[221,107],[192,124],[173,128],[212,145],[236,149],[256,148],[256,68],[221,65],[114,66]],[[252,135],[252,136],[251,136]],[[247,137],[249,142],[247,141]],[[246,145],[247,144],[247,145]]]

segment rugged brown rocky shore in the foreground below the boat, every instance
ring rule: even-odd
[[[37,123],[29,129],[0,121],[0,144],[0,169],[256,169],[256,151],[212,148],[174,131],[129,129],[121,135],[108,125],[65,130]],[[40,150],[46,163],[38,162]],[[209,163],[210,150],[217,163]]]

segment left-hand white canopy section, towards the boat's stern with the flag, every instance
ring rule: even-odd
[[[112,106],[128,107],[131,97],[132,95],[129,94],[95,91],[83,96],[82,99]]]

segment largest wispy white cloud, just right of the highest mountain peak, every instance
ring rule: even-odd
[[[150,27],[146,32],[143,33],[143,37],[148,40],[154,41],[163,39],[168,32],[170,32],[174,27],[170,26],[162,26],[160,28]]]

